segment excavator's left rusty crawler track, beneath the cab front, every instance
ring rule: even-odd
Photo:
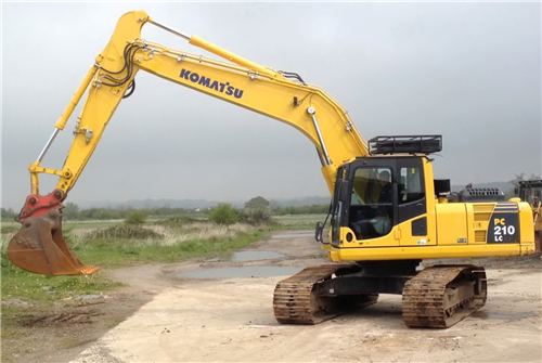
[[[376,302],[378,295],[319,296],[314,286],[352,270],[350,264],[308,268],[276,284],[274,315],[281,324],[318,324]]]

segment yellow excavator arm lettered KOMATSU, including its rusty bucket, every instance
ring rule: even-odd
[[[141,39],[145,24],[173,33],[225,62],[145,41]],[[120,17],[109,43],[96,56],[37,161],[29,167],[31,194],[17,217],[23,228],[8,247],[8,255],[16,265],[48,275],[98,271],[98,268],[86,267],[64,241],[62,202],[92,156],[116,107],[132,92],[139,70],[293,126],[315,145],[331,193],[338,166],[369,154],[366,143],[347,112],[322,89],[307,85],[300,76],[258,65],[197,36],[173,30],[143,11],[130,12]],[[47,151],[66,127],[83,94],[87,100],[73,130],[74,141],[63,168],[43,168],[41,161]],[[40,195],[40,173],[59,177],[56,189],[49,195]]]

